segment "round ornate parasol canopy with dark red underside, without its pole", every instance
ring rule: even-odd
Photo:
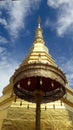
[[[55,66],[32,63],[20,67],[14,74],[15,94],[29,102],[36,102],[36,95],[42,96],[41,103],[55,101],[66,93],[66,77]]]

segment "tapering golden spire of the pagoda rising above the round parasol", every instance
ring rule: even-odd
[[[40,23],[41,19],[39,17],[38,27],[35,30],[33,46],[30,48],[29,53],[26,56],[25,60],[22,62],[21,66],[35,62],[48,63],[57,66],[54,60],[52,59],[51,55],[49,54],[48,48],[45,46],[45,42],[42,35],[43,31]]]

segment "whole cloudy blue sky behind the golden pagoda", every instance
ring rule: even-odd
[[[43,37],[73,88],[73,0],[0,1],[0,95],[33,44],[38,16]]]

